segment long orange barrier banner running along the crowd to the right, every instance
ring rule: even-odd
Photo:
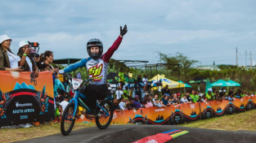
[[[182,124],[197,119],[254,109],[256,96],[235,98],[234,101],[214,100],[210,102],[183,103],[176,106],[148,107],[138,110],[115,111],[112,124]],[[91,123],[94,120],[83,118],[77,122]]]

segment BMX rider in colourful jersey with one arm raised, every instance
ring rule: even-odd
[[[89,58],[83,58],[79,62],[71,64],[65,69],[60,70],[60,74],[65,72],[72,72],[79,67],[87,67],[88,76],[93,80],[90,81],[89,85],[85,89],[81,90],[85,96],[87,96],[86,104],[92,109],[90,115],[96,115],[97,100],[105,99],[107,96],[106,76],[108,71],[108,63],[110,58],[114,54],[115,50],[119,48],[119,45],[127,32],[127,25],[124,28],[120,26],[120,35],[109,50],[102,55],[103,44],[99,39],[91,39],[87,43],[87,50]]]

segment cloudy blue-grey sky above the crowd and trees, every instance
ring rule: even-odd
[[[40,53],[55,58],[87,58],[86,43],[97,37],[104,51],[128,25],[112,58],[159,63],[158,52],[180,52],[197,65],[249,65],[256,61],[256,1],[254,0],[10,0],[1,2],[0,35],[38,41]],[[245,58],[245,50],[247,58]]]

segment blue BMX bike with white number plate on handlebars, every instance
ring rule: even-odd
[[[88,106],[83,102],[83,100],[86,100],[86,96],[79,92],[81,89],[85,88],[86,85],[88,85],[88,82],[92,79],[79,80],[70,76],[67,77],[70,87],[74,89],[74,98],[72,98],[70,103],[65,107],[65,111],[63,112],[61,118],[61,133],[64,136],[69,135],[72,131],[72,128],[74,127],[74,121],[79,112],[78,106],[82,106],[83,109],[86,109],[87,113],[92,112],[92,110],[90,110]],[[101,102],[97,101],[97,115],[94,118],[97,124],[97,128],[106,129],[111,124],[114,114],[114,106],[112,104],[113,103],[110,102],[110,100],[103,100]]]

